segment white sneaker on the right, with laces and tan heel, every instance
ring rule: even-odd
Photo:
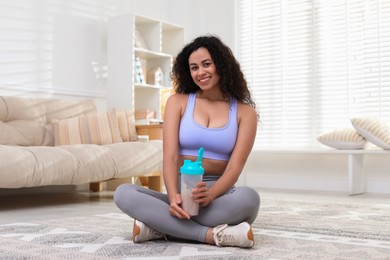
[[[213,229],[213,234],[217,246],[252,247],[255,244],[252,228],[247,222],[236,226],[219,225]]]

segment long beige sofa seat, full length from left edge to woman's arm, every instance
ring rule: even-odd
[[[0,145],[0,188],[78,185],[162,171],[162,141]]]

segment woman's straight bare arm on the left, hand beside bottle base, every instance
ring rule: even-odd
[[[190,216],[180,207],[181,196],[177,189],[179,160],[179,126],[186,106],[186,95],[175,94],[168,98],[163,124],[163,177],[170,202],[170,214],[178,218]]]

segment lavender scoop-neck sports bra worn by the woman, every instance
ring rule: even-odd
[[[187,107],[180,122],[179,154],[198,156],[200,147],[204,148],[204,158],[227,161],[236,144],[237,100],[230,99],[229,119],[224,127],[207,128],[194,120],[196,94],[190,93]]]

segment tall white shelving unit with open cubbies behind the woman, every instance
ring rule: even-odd
[[[107,38],[108,108],[150,109],[161,120],[162,102],[165,102],[162,92],[172,87],[170,72],[173,59],[184,44],[184,29],[129,14],[109,20]],[[143,82],[136,76],[137,58],[141,62]],[[157,69],[163,77],[156,82],[153,76]]]

